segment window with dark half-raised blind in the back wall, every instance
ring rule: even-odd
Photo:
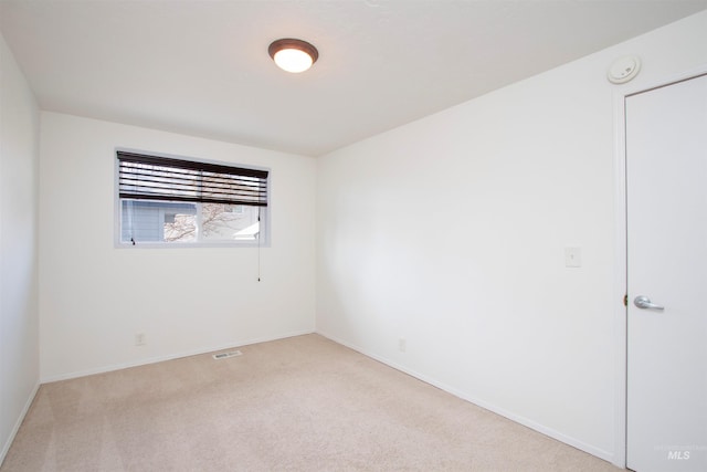
[[[267,170],[117,151],[120,244],[266,240]]]

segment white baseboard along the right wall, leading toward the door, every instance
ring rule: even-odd
[[[392,368],[394,368],[397,370],[400,370],[400,371],[402,371],[404,374],[408,374],[408,375],[410,375],[412,377],[415,377],[415,378],[418,378],[418,379],[420,379],[420,380],[422,380],[422,381],[424,381],[426,384],[430,384],[430,385],[432,385],[434,387],[437,387],[439,389],[442,389],[442,390],[444,390],[444,391],[446,391],[449,394],[452,394],[455,397],[458,397],[458,398],[461,398],[461,399],[463,399],[465,401],[474,403],[477,407],[484,408],[484,409],[486,409],[488,411],[492,411],[492,412],[494,412],[496,415],[500,415],[504,418],[508,418],[511,421],[515,421],[515,422],[517,422],[519,424],[523,424],[523,426],[525,426],[527,428],[530,428],[530,429],[532,429],[535,431],[538,431],[538,432],[540,432],[540,433],[542,433],[542,434],[545,434],[545,436],[547,436],[549,438],[557,439],[560,442],[563,442],[563,443],[566,443],[568,445],[577,448],[580,451],[584,451],[584,452],[587,452],[589,454],[592,454],[592,455],[594,455],[594,457],[597,457],[599,459],[603,459],[604,461],[608,461],[608,462],[611,462],[611,463],[614,462],[614,454],[609,452],[609,451],[604,451],[603,449],[599,449],[599,448],[595,448],[595,447],[593,447],[591,444],[587,444],[583,441],[580,441],[580,440],[578,440],[576,438],[572,438],[570,436],[563,434],[563,433],[561,433],[559,431],[556,431],[556,430],[553,430],[551,428],[548,428],[548,427],[546,427],[544,424],[535,422],[535,421],[532,421],[532,420],[530,420],[528,418],[525,418],[525,417],[516,415],[516,413],[514,413],[511,411],[508,411],[508,410],[505,410],[503,408],[499,408],[496,405],[489,403],[487,401],[479,400],[478,398],[474,398],[474,397],[472,397],[472,396],[469,396],[469,395],[467,395],[467,394],[465,394],[465,392],[463,392],[461,390],[457,390],[457,389],[455,389],[455,388],[453,388],[453,387],[451,387],[451,386],[449,386],[446,384],[443,384],[443,382],[441,382],[441,381],[439,381],[439,380],[436,380],[434,378],[428,377],[428,376],[425,376],[423,374],[420,374],[420,373],[418,373],[415,370],[411,370],[411,369],[409,369],[409,368],[407,368],[404,366],[401,366],[401,365],[399,365],[399,364],[397,364],[397,363],[394,363],[394,361],[392,361],[390,359],[387,359],[384,357],[378,356],[377,354],[369,353],[366,349],[362,349],[360,346],[356,346],[356,345],[352,345],[350,343],[347,343],[346,340],[339,339],[336,336],[330,336],[329,334],[324,333],[321,331],[317,331],[316,333],[321,335],[321,336],[324,336],[324,337],[326,337],[326,338],[328,338],[328,339],[331,339],[335,343],[338,343],[338,344],[340,344],[342,346],[346,346],[346,347],[348,347],[350,349],[354,349],[354,350],[356,350],[358,353],[361,353],[362,355],[365,355],[367,357],[376,359],[376,360],[378,360],[380,363],[386,364],[387,366],[390,366],[390,367],[392,367]]]

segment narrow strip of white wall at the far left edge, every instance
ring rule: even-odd
[[[0,35],[0,463],[39,385],[39,109]]]

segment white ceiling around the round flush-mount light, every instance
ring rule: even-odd
[[[707,9],[707,0],[1,0],[42,109],[318,156]],[[267,55],[319,50],[303,74]]]

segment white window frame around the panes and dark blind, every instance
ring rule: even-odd
[[[199,164],[208,164],[208,165],[217,165],[217,166],[226,166],[226,167],[238,167],[243,169],[251,170],[260,170],[267,172],[267,206],[257,207],[260,209],[260,235],[256,240],[202,240],[200,239],[200,234],[198,237],[198,241],[194,242],[166,242],[166,241],[143,241],[133,243],[130,241],[122,241],[120,232],[123,228],[123,210],[122,210],[122,201],[120,198],[120,183],[119,183],[119,174],[120,174],[120,159],[118,158],[119,153],[130,153],[130,154],[140,154],[150,157],[158,158],[167,158],[167,159],[180,159],[188,160],[192,162]],[[262,166],[253,166],[253,165],[244,165],[236,162],[229,162],[222,160],[210,160],[210,159],[199,159],[193,157],[184,157],[177,156],[171,154],[163,153],[154,153],[154,151],[145,151],[145,150],[136,150],[131,148],[116,147],[113,153],[113,176],[114,176],[114,189],[113,189],[113,199],[114,199],[114,238],[113,243],[116,249],[181,249],[181,248],[270,248],[271,245],[271,206],[272,206],[272,169]],[[133,199],[127,199],[133,200]],[[184,203],[183,201],[175,201],[175,200],[145,200],[145,201],[165,201],[165,202],[175,202],[175,203]],[[197,208],[198,218],[201,218],[201,204],[199,202],[193,202]],[[243,204],[244,207],[254,207],[249,204]]]

